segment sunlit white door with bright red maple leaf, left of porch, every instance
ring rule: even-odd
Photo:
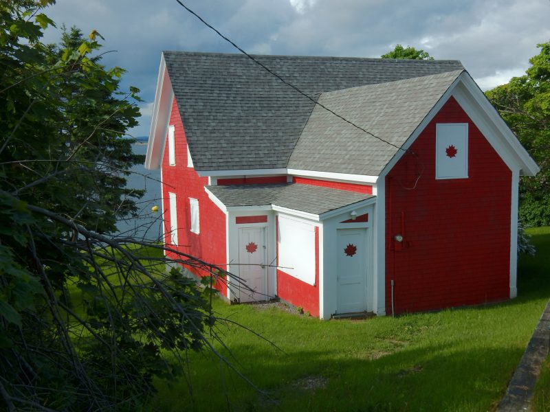
[[[239,275],[246,286],[238,281],[234,286],[240,290],[241,302],[267,299],[266,251],[263,227],[239,228]]]

